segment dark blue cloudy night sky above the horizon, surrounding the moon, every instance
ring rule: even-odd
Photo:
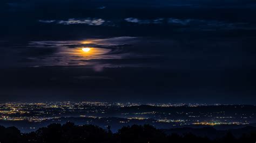
[[[2,0],[0,18],[0,101],[256,104],[253,0]]]

